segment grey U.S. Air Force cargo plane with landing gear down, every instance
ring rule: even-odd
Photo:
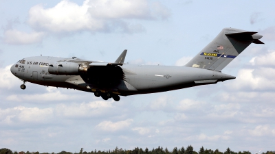
[[[179,90],[217,84],[236,77],[221,73],[251,43],[264,44],[254,31],[224,28],[185,66],[124,64],[127,50],[115,62],[83,60],[77,57],[25,57],[10,68],[26,82],[56,88],[94,92],[104,100],[120,96]]]

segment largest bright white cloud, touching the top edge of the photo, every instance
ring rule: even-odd
[[[83,5],[63,0],[53,8],[35,5],[30,9],[28,23],[36,29],[52,32],[73,31],[143,31],[139,24],[126,19],[168,18],[170,12],[159,3],[146,0],[86,0]]]

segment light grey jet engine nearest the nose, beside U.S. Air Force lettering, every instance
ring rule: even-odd
[[[49,65],[48,71],[52,75],[79,75],[87,72],[87,68],[74,62],[56,62]]]

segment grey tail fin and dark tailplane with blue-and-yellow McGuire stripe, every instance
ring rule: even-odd
[[[241,29],[224,28],[186,66],[208,70],[222,70],[252,42],[264,44],[259,40],[263,36],[256,33]]]

